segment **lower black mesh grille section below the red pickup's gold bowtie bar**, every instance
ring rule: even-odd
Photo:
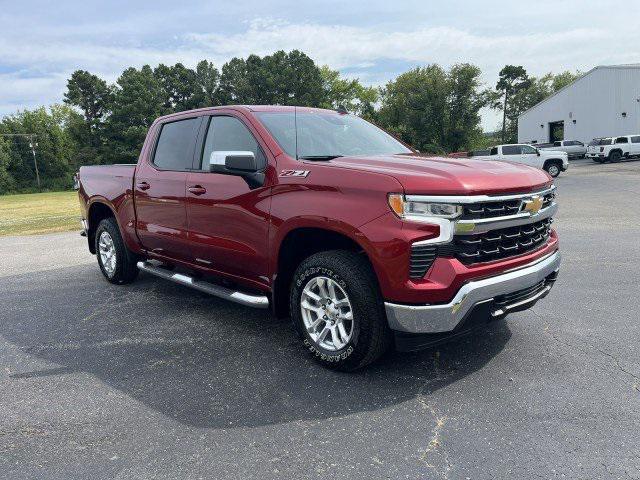
[[[456,235],[453,255],[463,263],[490,262],[531,252],[549,239],[552,219],[477,235]]]

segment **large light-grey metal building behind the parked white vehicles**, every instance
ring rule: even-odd
[[[640,134],[640,64],[595,67],[518,117],[518,142]]]

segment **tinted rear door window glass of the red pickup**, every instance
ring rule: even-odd
[[[153,164],[162,170],[190,170],[199,120],[189,118],[162,125]]]

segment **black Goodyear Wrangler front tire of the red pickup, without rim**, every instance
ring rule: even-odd
[[[317,277],[336,282],[351,303],[353,333],[339,350],[324,348],[311,337],[304,324],[301,312],[303,290]],[[392,344],[378,280],[368,260],[357,253],[331,250],[305,259],[293,276],[289,306],[293,324],[305,348],[325,367],[357,370],[376,361]]]

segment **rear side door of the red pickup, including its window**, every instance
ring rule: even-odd
[[[185,188],[193,167],[200,117],[162,123],[155,145],[136,168],[136,230],[142,246],[156,255],[189,260]]]

